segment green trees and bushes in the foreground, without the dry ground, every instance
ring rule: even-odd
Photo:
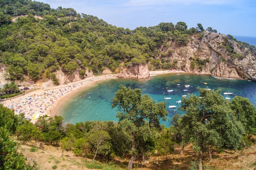
[[[252,145],[250,134],[255,134],[256,110],[248,99],[239,96],[228,101],[221,92],[198,89],[199,96],[189,95],[182,99],[180,112],[172,118],[173,124],[166,128],[159,124],[165,119],[167,112],[165,102],[155,103],[148,95],[142,95],[140,89],[120,86],[113,98],[113,106],[117,107],[119,122],[85,121],[84,123],[64,124],[61,116],[45,120],[45,116],[35,124],[25,120],[24,115],[14,115],[14,111],[0,105],[1,142],[6,141],[7,130],[17,135],[17,139],[25,144],[44,141],[58,146],[62,156],[64,151],[73,151],[76,156],[96,160],[109,161],[118,156],[130,155],[131,164],[137,160],[150,157],[157,150],[166,156],[174,152],[175,145],[184,147],[192,143],[198,152],[198,162],[192,162],[191,168],[203,168],[202,155],[207,152],[209,160],[212,151],[218,149],[242,150]],[[249,115],[250,114],[250,115]],[[8,140],[7,140],[8,141]],[[15,147],[15,142],[12,141]],[[32,148],[32,152],[36,151]],[[18,160],[23,160],[22,155]],[[3,163],[10,164],[3,158]],[[15,160],[14,160],[15,161]],[[21,161],[22,163],[22,161]],[[87,164],[96,168],[102,165],[97,162]],[[106,168],[105,168],[106,169]],[[111,169],[111,167],[110,167]]]

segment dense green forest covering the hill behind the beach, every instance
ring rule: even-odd
[[[206,30],[217,32],[211,27]],[[186,46],[191,36],[201,39],[204,31],[200,23],[188,29],[184,22],[130,30],[72,8],[51,9],[31,0],[0,0],[0,61],[8,67],[5,76],[10,80],[23,79],[23,75],[36,80],[45,72],[58,84],[54,73],[58,69],[67,75],[79,69],[84,77],[86,68],[100,74],[106,68],[115,72],[120,66],[144,63],[151,70],[175,69],[177,61],[169,60],[173,51],[166,55],[160,47],[168,41]],[[233,57],[244,57],[233,51],[232,40],[236,39],[229,35],[223,48]],[[254,46],[237,42],[255,55]]]

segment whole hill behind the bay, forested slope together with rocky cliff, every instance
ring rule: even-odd
[[[184,22],[160,23],[130,30],[30,0],[1,1],[0,23],[0,61],[8,67],[9,80],[62,84],[58,79],[64,74],[77,81],[92,72],[125,68],[145,78],[148,74],[136,76],[134,69],[143,65],[143,72],[179,69],[256,81],[255,47],[210,27],[204,31],[201,24],[188,29]]]

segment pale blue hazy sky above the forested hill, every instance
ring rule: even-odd
[[[256,0],[37,0],[73,8],[117,27],[135,29],[161,22],[201,23],[221,34],[256,37]]]

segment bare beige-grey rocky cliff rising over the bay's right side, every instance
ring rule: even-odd
[[[206,31],[201,39],[192,36],[187,46],[177,46],[177,43],[169,41],[167,46],[161,46],[160,52],[166,53],[169,60],[176,63],[177,70],[256,81],[256,58],[247,48],[228,40],[233,53],[240,56],[231,57],[223,46],[225,40],[226,35]]]

